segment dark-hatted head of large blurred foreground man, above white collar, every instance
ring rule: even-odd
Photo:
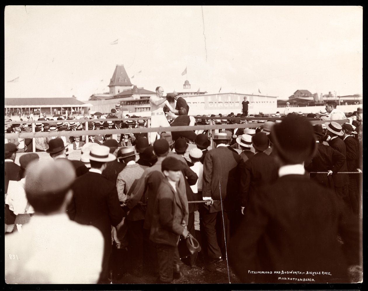
[[[314,128],[305,118],[287,116],[273,127],[273,148],[290,164],[304,162],[314,156],[317,149],[313,132]]]

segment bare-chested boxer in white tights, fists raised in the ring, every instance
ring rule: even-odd
[[[167,101],[167,97],[162,97],[163,88],[156,87],[156,95],[149,97],[149,105],[151,106],[151,127],[170,127],[169,122],[166,119],[163,107],[166,105],[172,113],[179,113],[178,110],[173,109]],[[149,133],[149,143],[153,143],[156,140],[157,132]]]

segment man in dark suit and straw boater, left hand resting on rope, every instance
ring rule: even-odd
[[[202,196],[206,202],[200,207],[200,214],[208,246],[204,250],[208,263],[220,262],[226,255],[225,244],[230,236],[229,218],[231,219],[236,211],[234,196],[239,189],[237,166],[241,158],[236,150],[229,146],[231,137],[230,131],[213,135],[216,148],[208,151],[203,164]],[[220,231],[216,230],[216,221]]]

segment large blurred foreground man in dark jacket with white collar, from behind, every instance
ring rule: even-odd
[[[316,148],[311,124],[290,116],[272,130],[279,178],[251,197],[228,247],[230,265],[243,283],[349,283],[359,231],[342,199],[305,174]]]

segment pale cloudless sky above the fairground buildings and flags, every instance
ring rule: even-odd
[[[362,94],[362,15],[358,6],[7,6],[5,97],[85,101],[109,91],[117,64],[132,84],[166,93],[188,79],[208,93]]]

